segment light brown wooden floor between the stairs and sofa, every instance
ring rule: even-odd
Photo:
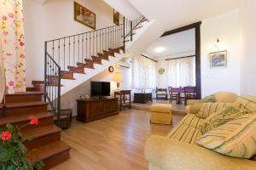
[[[146,170],[144,145],[150,134],[166,136],[183,116],[174,115],[172,126],[150,124],[149,112],[125,110],[96,122],[73,121],[61,139],[72,147],[69,161],[54,170]]]

